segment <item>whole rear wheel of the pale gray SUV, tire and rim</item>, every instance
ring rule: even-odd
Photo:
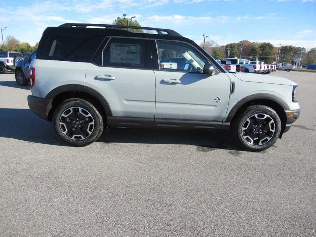
[[[79,113],[79,108],[82,109],[82,113]],[[74,118],[70,118],[71,116]],[[85,119],[88,120],[81,124],[80,121]],[[95,142],[103,132],[103,118],[97,108],[89,101],[79,98],[63,101],[54,111],[52,122],[57,135],[63,141],[78,147]],[[80,136],[81,139],[78,139]]]

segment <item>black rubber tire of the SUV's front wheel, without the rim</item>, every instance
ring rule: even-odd
[[[273,134],[273,137],[267,143],[261,146],[253,146],[247,143],[242,136],[242,126],[244,122],[246,121],[247,118],[249,118],[250,116],[254,114],[269,115],[275,123],[275,133]],[[278,139],[280,132],[281,132],[281,119],[279,118],[275,110],[264,105],[248,107],[248,109],[239,117],[239,120],[236,122],[236,126],[235,126],[235,137],[237,139],[238,144],[241,145],[242,148],[248,151],[262,151],[271,147]]]

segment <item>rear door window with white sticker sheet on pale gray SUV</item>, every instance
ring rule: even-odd
[[[102,55],[103,66],[152,69],[150,40],[113,37]]]

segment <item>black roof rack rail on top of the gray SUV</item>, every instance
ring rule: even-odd
[[[152,30],[156,31],[159,35],[169,35],[169,36],[181,36],[178,32],[170,30],[170,29],[161,29],[154,27],[140,27],[140,26],[121,26],[121,25],[107,25],[107,24],[88,24],[88,23],[65,23],[60,25],[59,27],[79,27],[86,28],[88,26],[96,26],[96,27],[104,27],[105,29],[142,29],[142,30]],[[146,33],[143,33],[146,34]]]

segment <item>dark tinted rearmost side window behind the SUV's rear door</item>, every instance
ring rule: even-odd
[[[50,36],[43,59],[90,62],[104,36],[59,37]]]

